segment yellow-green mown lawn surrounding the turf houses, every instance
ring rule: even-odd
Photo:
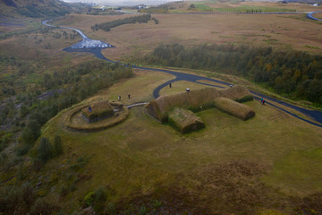
[[[135,78],[115,84],[93,99],[115,99],[131,89],[133,100],[126,98],[126,104],[145,101],[151,99],[151,89],[171,78],[163,73],[138,72]],[[191,89],[202,87],[175,82],[173,88],[165,87],[161,94],[182,91],[187,85]],[[131,108],[129,118],[121,125],[97,133],[75,133],[64,129],[64,117],[68,113],[64,111],[43,129],[44,136],[59,133],[66,149],[64,156],[51,161],[47,168],[55,172],[66,160],[88,158],[84,172],[91,177],[80,182],[77,187],[82,188],[70,193],[66,202],[74,202],[102,185],[114,189],[111,201],[116,202],[131,193],[156,193],[157,185],[172,187],[174,182],[188,186],[196,194],[208,195],[211,189],[199,191],[194,176],[199,176],[205,168],[222,168],[241,160],[254,167],[249,167],[251,171],[260,167],[264,174],[255,176],[256,180],[270,187],[266,189],[274,194],[278,187],[284,195],[317,192],[322,185],[319,177],[322,172],[318,168],[322,165],[320,129],[273,107],[261,106],[258,101],[245,104],[255,110],[254,118],[244,122],[211,108],[198,113],[206,128],[184,135],[170,125],[160,125],[142,107]],[[236,177],[242,180],[239,175]],[[207,207],[214,203],[211,201]]]

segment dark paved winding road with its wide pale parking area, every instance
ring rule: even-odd
[[[314,13],[322,13],[322,12],[314,12]],[[307,15],[308,18],[313,19],[313,20],[322,21],[320,19],[317,19],[317,18],[313,17],[314,13],[309,13]],[[47,27],[57,28],[54,25],[48,24],[47,22],[49,22],[49,21],[51,21],[51,20],[47,20],[47,21],[44,21],[42,23],[44,25],[46,25]],[[102,49],[104,49],[106,47],[113,47],[112,45],[107,44],[107,43],[102,42],[102,41],[99,41],[99,40],[89,39],[81,30],[72,29],[72,28],[68,28],[68,27],[59,27],[59,28],[68,29],[68,30],[75,30],[78,33],[80,33],[80,36],[83,38],[82,41],[80,41],[79,43],[75,44],[77,46],[72,45],[72,47],[66,47],[66,48],[64,48],[64,51],[68,51],[68,52],[89,52],[89,53],[92,53],[95,56],[97,56],[97,58],[99,58],[99,59],[106,60],[106,61],[111,62],[111,63],[115,63],[113,60],[107,59],[101,53]],[[81,44],[81,42],[83,42],[83,41],[86,41],[87,44],[89,44],[89,45],[92,44],[93,46],[88,46],[88,45],[84,46],[83,43]],[[97,43],[97,41],[100,42],[100,43]],[[102,44],[106,44],[106,46],[102,46]],[[135,66],[135,65],[132,66],[132,67],[133,68],[139,68],[139,69],[142,69],[142,70],[148,70],[148,71],[170,73],[170,74],[174,75],[175,78],[173,80],[165,82],[165,83],[161,84],[160,86],[158,86],[155,90],[153,90],[153,97],[154,98],[159,97],[160,90],[163,89],[165,86],[169,85],[169,83],[172,83],[172,82],[179,82],[179,81],[196,82],[196,83],[199,83],[199,84],[213,86],[213,87],[217,87],[217,88],[224,88],[224,87],[219,86],[219,85],[215,85],[215,84],[204,83],[204,82],[200,82],[200,81],[210,81],[210,82],[215,82],[215,83],[217,82],[217,83],[220,83],[220,84],[224,84],[226,86],[231,85],[231,83],[228,83],[228,82],[222,82],[222,81],[216,80],[214,78],[207,78],[207,77],[203,77],[203,76],[199,76],[199,75],[195,75],[195,74],[190,74],[190,73],[180,73],[180,72],[174,72],[174,71],[170,71],[170,70],[148,68],[148,67],[141,67],[141,66]],[[321,111],[309,110],[307,108],[298,107],[298,106],[292,105],[290,103],[287,103],[285,101],[268,97],[268,96],[263,95],[261,93],[258,93],[256,91],[251,90],[250,92],[252,94],[254,94],[255,99],[260,99],[260,98],[263,97],[264,99],[266,99],[266,103],[268,105],[270,105],[272,107],[275,107],[275,108],[277,108],[279,110],[282,110],[282,111],[284,111],[285,113],[287,113],[287,114],[289,114],[291,116],[294,116],[294,117],[296,117],[296,118],[298,118],[298,119],[300,119],[300,120],[302,120],[304,122],[309,123],[310,125],[315,125],[315,126],[318,126],[318,127],[322,127],[322,112]],[[275,103],[277,103],[278,106],[275,105]],[[289,108],[289,109],[298,111],[301,114],[303,114],[305,116],[308,116],[310,119],[312,119],[312,121],[308,120],[308,119],[305,119],[305,118],[303,118],[301,116],[298,116],[298,115],[292,113],[291,111],[289,111],[289,110],[287,110],[285,108]]]

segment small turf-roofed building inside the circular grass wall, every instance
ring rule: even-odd
[[[82,108],[81,114],[88,123],[94,123],[114,116],[114,107],[108,100],[98,101],[89,105],[89,107]]]

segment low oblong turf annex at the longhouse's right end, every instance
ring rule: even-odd
[[[233,101],[227,98],[217,98],[215,99],[215,105],[217,108],[223,110],[229,115],[236,116],[242,120],[248,120],[249,118],[255,116],[255,112],[252,108]]]

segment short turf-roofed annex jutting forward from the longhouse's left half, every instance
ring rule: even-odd
[[[169,123],[181,133],[189,133],[205,127],[202,120],[192,111],[175,107],[169,114]]]

